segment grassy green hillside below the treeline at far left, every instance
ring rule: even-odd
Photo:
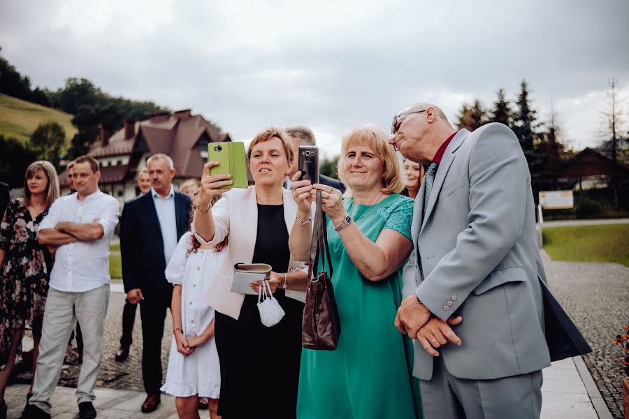
[[[77,133],[77,129],[71,123],[72,117],[60,110],[0,94],[0,135],[5,137],[27,142],[39,124],[52,121],[64,128],[69,145]]]

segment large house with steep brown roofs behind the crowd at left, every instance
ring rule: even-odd
[[[138,172],[156,153],[171,156],[175,164],[173,184],[178,189],[186,179],[201,179],[210,142],[231,141],[201,115],[191,110],[160,112],[143,121],[127,121],[113,135],[101,128],[101,138],[87,153],[101,165],[101,191],[117,198],[121,205],[138,195]],[[70,191],[67,170],[59,175],[62,194]]]

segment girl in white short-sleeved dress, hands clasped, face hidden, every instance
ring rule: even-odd
[[[203,291],[218,272],[227,253],[226,242],[216,247],[199,244],[191,233],[182,235],[168,266],[173,284],[173,344],[166,383],[161,391],[175,396],[180,418],[198,418],[198,397],[208,397],[210,418],[217,416],[221,374],[214,339],[214,309]]]

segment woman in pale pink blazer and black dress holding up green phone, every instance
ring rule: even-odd
[[[297,204],[282,187],[293,151],[284,131],[267,128],[252,140],[247,156],[255,182],[248,189],[221,189],[232,184],[231,175],[211,175],[218,163],[205,164],[193,222],[202,244],[216,244],[229,235],[226,262],[205,294],[216,310],[218,413],[224,419],[295,418],[308,267],[295,262],[288,247],[289,231],[299,222]],[[223,198],[212,207],[212,198],[219,195]],[[280,323],[270,328],[261,323],[257,295],[231,293],[236,263],[273,267],[270,288],[285,312]],[[244,402],[247,397],[254,399]]]

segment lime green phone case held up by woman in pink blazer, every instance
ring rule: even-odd
[[[218,161],[219,165],[210,169],[210,175],[229,173],[233,184],[221,186],[222,189],[249,187],[247,180],[247,159],[244,142],[210,142],[208,161]]]

